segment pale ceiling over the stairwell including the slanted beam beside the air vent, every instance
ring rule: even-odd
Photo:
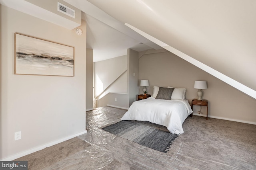
[[[94,62],[126,55],[129,48],[135,51],[162,49],[87,0],[64,1],[84,12],[86,44],[93,49]]]

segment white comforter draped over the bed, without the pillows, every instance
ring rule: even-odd
[[[121,120],[150,121],[166,126],[170,133],[184,133],[182,123],[192,113],[187,100],[162,100],[153,97],[133,102]]]

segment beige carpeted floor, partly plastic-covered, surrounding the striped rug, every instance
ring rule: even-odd
[[[125,112],[112,107],[88,111],[88,133],[17,160],[27,160],[29,170],[256,169],[256,125],[188,117],[183,123],[184,134],[163,153],[98,128],[120,121]]]

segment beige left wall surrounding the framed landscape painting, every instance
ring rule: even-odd
[[[85,133],[85,21],[79,36],[75,30],[0,6],[0,22],[0,159]],[[74,47],[74,77],[15,75],[15,32]],[[22,139],[14,141],[17,131]]]

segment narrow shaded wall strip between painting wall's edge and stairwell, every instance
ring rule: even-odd
[[[86,111],[93,109],[93,50],[86,49]]]

